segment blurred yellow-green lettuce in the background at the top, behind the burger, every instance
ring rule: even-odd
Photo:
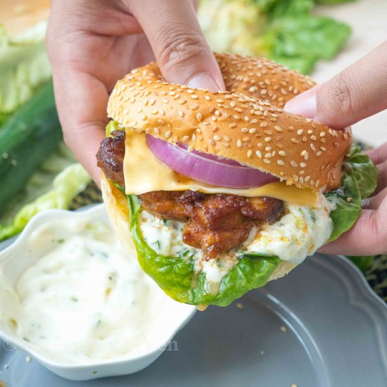
[[[204,0],[199,20],[214,51],[266,56],[308,73],[334,58],[350,27],[312,14],[313,0]]]

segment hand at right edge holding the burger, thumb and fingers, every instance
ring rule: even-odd
[[[343,70],[332,80],[289,101],[285,110],[343,129],[387,108],[387,42]],[[352,229],[319,249],[323,253],[387,253],[387,144],[369,151],[379,170],[373,196],[363,201]]]

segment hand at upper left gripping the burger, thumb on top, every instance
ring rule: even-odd
[[[98,184],[95,155],[105,137],[108,96],[132,68],[156,57],[167,82],[224,89],[198,25],[196,3],[52,1],[46,47],[63,137]]]

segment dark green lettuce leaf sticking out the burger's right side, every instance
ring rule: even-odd
[[[361,152],[359,146],[352,146],[343,163],[341,186],[325,194],[336,205],[336,209],[330,213],[334,230],[329,242],[353,227],[362,212],[362,199],[372,194],[376,188],[377,176],[374,163]]]

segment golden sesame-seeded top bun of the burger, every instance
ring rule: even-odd
[[[288,184],[336,188],[351,133],[293,115],[282,106],[314,85],[265,58],[215,54],[227,91],[164,82],[156,63],[118,81],[108,115],[172,144],[258,168]]]

